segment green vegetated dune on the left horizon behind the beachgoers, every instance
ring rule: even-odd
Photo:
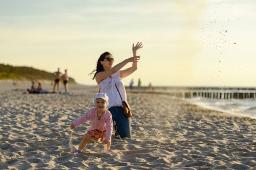
[[[53,81],[53,73],[31,67],[16,67],[0,64],[0,80],[28,80],[28,81]],[[68,83],[76,84],[75,80],[69,77]]]

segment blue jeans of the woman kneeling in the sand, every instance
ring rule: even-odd
[[[120,137],[131,138],[130,119],[125,116],[124,108],[122,106],[113,106],[108,110],[112,115],[113,123],[116,121],[117,132]]]

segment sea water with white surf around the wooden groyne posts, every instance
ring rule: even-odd
[[[155,92],[164,93],[184,93],[185,92],[214,92],[214,93],[256,93],[254,87],[165,87],[165,88],[155,88]],[[249,99],[212,99],[206,97],[192,97],[184,98],[184,100],[191,102],[193,104],[233,114],[238,116],[245,116],[256,119],[256,98]]]

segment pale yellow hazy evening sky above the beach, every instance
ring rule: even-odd
[[[253,87],[255,18],[255,0],[0,0],[0,63],[96,85],[103,52],[118,64],[141,41],[125,85]]]

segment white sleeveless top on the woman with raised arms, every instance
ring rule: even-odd
[[[107,93],[107,96],[108,96],[107,108],[110,108],[112,106],[122,106],[123,107],[123,102],[120,98],[120,95],[116,89],[115,84],[122,96],[122,99],[127,102],[126,90],[125,90],[123,81],[121,79],[121,73],[119,70],[116,73],[112,74],[110,77],[107,77],[106,79],[104,79],[99,84],[100,88],[101,88],[100,93]]]

